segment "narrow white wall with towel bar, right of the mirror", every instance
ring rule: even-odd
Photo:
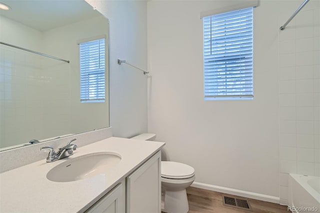
[[[147,131],[146,1],[86,0],[109,19],[110,126],[114,136]]]

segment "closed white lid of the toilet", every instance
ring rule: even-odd
[[[170,179],[189,178],[194,175],[194,168],[180,162],[161,161],[161,176]]]

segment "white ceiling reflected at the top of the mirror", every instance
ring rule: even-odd
[[[11,7],[0,15],[39,31],[100,15],[84,0],[0,0]]]

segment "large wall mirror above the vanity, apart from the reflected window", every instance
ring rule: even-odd
[[[0,2],[11,7],[0,11],[1,42],[70,61],[0,44],[0,150],[108,127],[108,19],[84,0]],[[100,38],[104,100],[81,102],[78,43]]]

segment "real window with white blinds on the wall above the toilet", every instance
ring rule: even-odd
[[[204,99],[253,98],[253,7],[203,17]]]

